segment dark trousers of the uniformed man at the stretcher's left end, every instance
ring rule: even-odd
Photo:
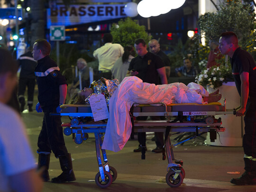
[[[37,152],[51,152],[55,157],[66,155],[67,148],[64,142],[62,122],[60,116],[50,116],[50,113],[56,113],[57,106],[43,108],[44,119],[41,132],[37,142]]]

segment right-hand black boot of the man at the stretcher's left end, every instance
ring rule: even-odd
[[[67,155],[59,156],[61,170],[63,171],[61,175],[52,178],[52,183],[64,183],[75,181],[75,175],[73,172],[71,155],[68,153]]]

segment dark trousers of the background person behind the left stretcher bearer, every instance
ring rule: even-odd
[[[34,99],[34,90],[35,90],[35,79],[31,78],[19,78],[18,81],[18,98],[20,100],[21,97],[24,98],[24,94],[27,87],[27,105],[32,106],[33,105],[33,99]]]

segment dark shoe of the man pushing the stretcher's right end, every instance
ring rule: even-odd
[[[239,178],[232,178],[230,183],[236,185],[256,184],[256,174],[245,171]]]

